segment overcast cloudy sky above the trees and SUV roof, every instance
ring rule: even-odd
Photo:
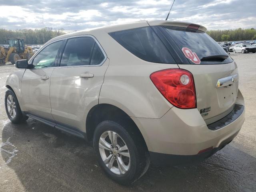
[[[0,28],[75,31],[138,20],[163,20],[172,0],[0,0]],[[256,28],[256,0],[176,0],[169,20],[208,29]]]

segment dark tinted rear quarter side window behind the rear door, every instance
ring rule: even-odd
[[[175,63],[170,52],[150,27],[112,32],[110,36],[143,60],[155,63]]]

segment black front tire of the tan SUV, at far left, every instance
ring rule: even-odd
[[[10,103],[11,101],[11,103]],[[18,99],[13,90],[8,89],[4,98],[5,110],[8,118],[14,124],[19,124],[28,120],[28,116],[24,116],[20,110]],[[10,110],[12,108],[12,110]]]

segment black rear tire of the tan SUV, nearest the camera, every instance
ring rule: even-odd
[[[109,140],[110,138],[108,136],[109,132],[112,132],[112,135],[117,135],[116,140],[118,145],[116,146],[118,146],[118,148],[116,149],[115,149],[115,146],[112,147],[112,149],[110,148],[110,144],[112,142]],[[105,134],[106,136],[104,136]],[[104,141],[107,141],[109,144],[108,150],[102,149],[103,142],[99,144],[99,141],[100,139],[102,140],[102,137],[105,138],[106,140],[104,139]],[[150,158],[149,158],[148,150],[145,147],[143,142],[144,141],[142,141],[137,134],[129,133],[120,124],[114,121],[108,121],[108,120],[98,124],[98,126],[95,129],[94,137],[93,137],[94,151],[97,155],[98,163],[100,167],[112,180],[123,185],[127,185],[132,182],[135,182],[142,175],[144,175],[144,173],[148,170],[148,167],[150,164]],[[113,142],[113,144],[114,143],[115,142]],[[120,150],[125,145],[127,146],[128,150],[126,151],[121,150],[119,154],[118,150]],[[127,157],[127,153],[129,154],[130,158]],[[122,155],[122,154],[125,154],[125,155]],[[110,160],[107,161],[106,157],[110,157],[111,159],[108,158]],[[108,164],[104,163],[103,161],[104,158],[106,162],[109,162]],[[111,162],[114,162],[114,163],[112,163],[113,166],[111,167],[111,170],[110,170],[107,166],[109,166]],[[118,166],[118,162],[119,164],[123,163],[124,166],[123,167]],[[122,167],[122,169],[120,169],[119,167]]]

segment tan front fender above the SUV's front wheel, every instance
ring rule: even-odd
[[[7,78],[6,84],[5,84],[7,88],[12,88],[18,101],[21,101],[21,81],[22,81],[22,76],[24,72],[25,72],[25,69],[21,69],[11,73]],[[20,108],[22,110],[22,104],[20,104]]]

